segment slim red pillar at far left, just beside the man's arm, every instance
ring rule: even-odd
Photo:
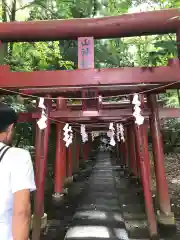
[[[47,116],[49,116],[49,112],[51,111],[52,102],[51,100],[45,100],[46,108],[47,108]],[[37,191],[35,194],[35,205],[34,205],[34,221],[33,221],[33,233],[32,239],[36,240],[39,239],[40,236],[40,229],[41,229],[41,217],[44,214],[44,187],[45,187],[45,176],[46,176],[46,169],[47,169],[47,154],[48,154],[48,140],[50,134],[50,125],[51,120],[47,120],[47,128],[41,131],[38,137],[40,139],[41,146],[40,154],[37,155],[39,157],[39,161],[36,165],[38,167],[38,172],[36,175],[37,181]],[[38,160],[38,159],[37,159]]]

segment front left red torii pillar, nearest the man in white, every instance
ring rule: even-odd
[[[52,101],[45,100],[47,116],[52,109]],[[36,128],[36,156],[35,156],[35,180],[37,191],[35,193],[34,215],[32,221],[32,240],[39,240],[41,227],[47,223],[47,215],[44,214],[44,187],[47,169],[48,142],[51,120],[47,120],[47,127],[44,130]]]

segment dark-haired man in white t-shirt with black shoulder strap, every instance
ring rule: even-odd
[[[0,104],[0,240],[27,240],[31,217],[30,192],[36,189],[28,151],[10,147],[15,111]]]

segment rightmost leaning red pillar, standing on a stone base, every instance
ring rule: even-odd
[[[149,119],[152,135],[152,148],[156,173],[156,187],[160,211],[168,215],[171,213],[170,199],[168,195],[168,183],[164,167],[163,141],[160,131],[158,106],[155,95],[148,96],[151,117]]]

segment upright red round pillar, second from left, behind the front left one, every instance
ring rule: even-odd
[[[57,99],[57,110],[66,108],[66,100],[59,97]],[[56,160],[54,169],[54,192],[62,193],[64,178],[66,175],[66,147],[63,141],[63,123],[56,123]]]

